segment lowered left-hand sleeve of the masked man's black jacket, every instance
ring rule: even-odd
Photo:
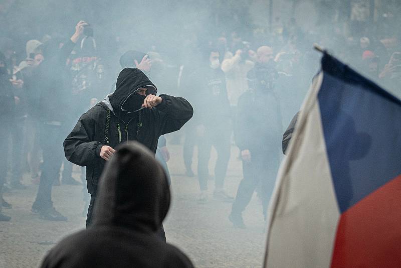
[[[99,158],[103,145],[94,136],[95,120],[84,113],[63,143],[67,160],[84,167]]]

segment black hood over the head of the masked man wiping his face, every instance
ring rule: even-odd
[[[137,68],[125,68],[120,72],[117,78],[116,90],[113,94],[109,95],[110,104],[117,117],[121,115],[121,106],[124,101],[140,87],[146,86],[153,86],[157,92],[156,86],[141,70]]]

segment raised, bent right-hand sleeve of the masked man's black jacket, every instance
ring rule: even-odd
[[[193,115],[192,106],[184,98],[160,95],[162,103],[157,109],[164,113],[162,116],[161,135],[180,129]]]

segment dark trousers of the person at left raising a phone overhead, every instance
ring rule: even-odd
[[[53,206],[53,181],[59,178],[61,163],[64,158],[63,141],[66,132],[61,126],[40,124],[40,144],[43,150],[43,166],[35,207]]]

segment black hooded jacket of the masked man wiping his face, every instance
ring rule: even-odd
[[[121,119],[123,102],[139,87],[146,85],[153,84],[142,71],[125,68],[118,76],[115,92],[81,115],[65,139],[66,158],[74,164],[86,166],[89,193],[96,192],[106,162],[100,158],[103,145],[115,148],[128,140],[138,141],[155,153],[161,135],[180,129],[192,117],[189,102],[162,94],[162,103],[157,107],[134,112],[128,121]]]

